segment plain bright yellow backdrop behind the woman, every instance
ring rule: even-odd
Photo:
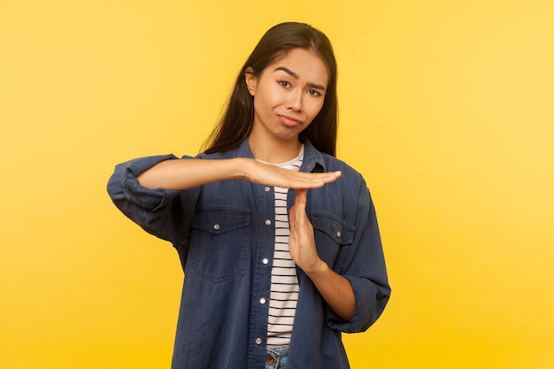
[[[0,367],[169,366],[181,266],[106,181],[195,154],[285,20],[334,42],[393,286],[352,367],[554,367],[553,4],[1,0]]]

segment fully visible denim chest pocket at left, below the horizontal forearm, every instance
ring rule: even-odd
[[[189,270],[214,283],[244,276],[250,244],[250,211],[196,211],[189,251]]]

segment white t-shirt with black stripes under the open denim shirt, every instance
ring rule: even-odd
[[[298,156],[281,168],[298,169],[304,158],[304,145]],[[289,252],[289,214],[287,211],[288,188],[274,188],[275,193],[275,245],[269,294],[267,319],[267,348],[287,346],[292,334],[298,301],[298,278],[296,264]]]

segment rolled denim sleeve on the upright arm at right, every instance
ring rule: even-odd
[[[391,292],[375,208],[364,181],[358,194],[356,230],[341,268],[341,275],[354,290],[356,310],[350,321],[331,309],[327,311],[327,326],[345,333],[371,327],[384,311]]]

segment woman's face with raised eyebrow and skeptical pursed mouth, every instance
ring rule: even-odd
[[[251,135],[289,141],[318,115],[327,90],[327,66],[312,50],[293,49],[254,76],[245,75],[254,96]]]

